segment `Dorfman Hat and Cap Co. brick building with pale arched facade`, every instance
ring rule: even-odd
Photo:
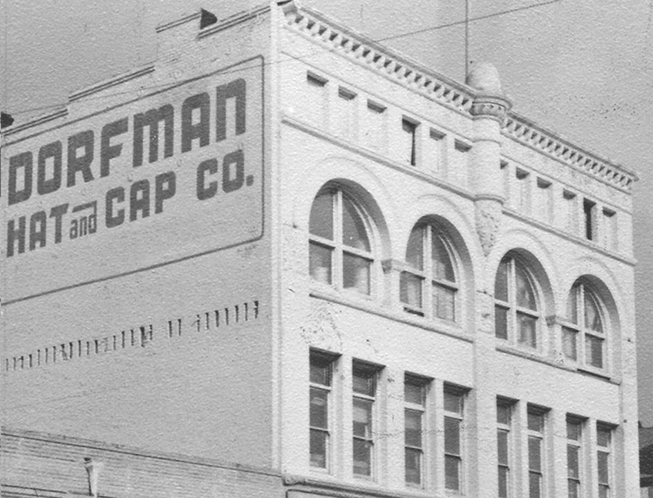
[[[10,492],[638,494],[634,173],[294,1],[158,36],[3,132]]]

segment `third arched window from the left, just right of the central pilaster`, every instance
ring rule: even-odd
[[[499,263],[494,283],[494,323],[498,338],[537,349],[540,311],[535,279],[511,254]]]

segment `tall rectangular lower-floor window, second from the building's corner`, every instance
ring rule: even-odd
[[[353,472],[354,476],[372,477],[374,468],[374,406],[377,393],[377,369],[354,362],[353,391]]]

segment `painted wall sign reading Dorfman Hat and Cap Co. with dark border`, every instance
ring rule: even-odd
[[[6,303],[263,235],[263,58],[10,142]]]

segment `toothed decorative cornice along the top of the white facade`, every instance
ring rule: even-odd
[[[497,120],[503,117],[501,107],[509,102],[507,99],[500,99],[502,102],[485,99],[470,86],[455,82],[376,41],[352,32],[320,12],[298,5],[296,1],[287,2],[281,8],[286,28],[311,39],[330,52],[353,59],[370,70],[390,77],[410,90],[469,117],[485,115]],[[473,111],[475,99],[478,100]],[[505,136],[565,162],[616,189],[630,193],[633,182],[638,180],[634,171],[571,144],[556,133],[510,111],[509,106],[505,110],[504,119],[502,133]]]

